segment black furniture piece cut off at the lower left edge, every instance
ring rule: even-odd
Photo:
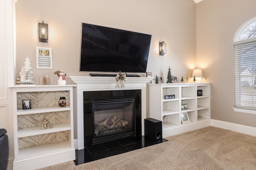
[[[0,129],[0,170],[6,170],[8,164],[9,147],[5,129]]]

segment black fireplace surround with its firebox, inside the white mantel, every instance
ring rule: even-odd
[[[141,90],[86,91],[84,147],[141,136]]]

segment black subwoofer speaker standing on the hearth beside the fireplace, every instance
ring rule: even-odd
[[[152,141],[162,141],[162,121],[153,118],[144,119],[145,137]]]

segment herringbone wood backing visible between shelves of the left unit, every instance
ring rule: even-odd
[[[60,92],[20,92],[18,93],[18,109],[22,109],[22,100],[31,99],[31,107],[46,107],[58,106],[60,97],[67,98],[66,91]],[[49,122],[64,123],[68,121],[68,111],[57,111],[47,113],[35,113],[28,115],[18,115],[18,128],[41,126],[43,119],[48,119]],[[43,129],[42,129],[43,131]],[[47,133],[43,135],[35,135],[30,137],[20,138],[20,149],[32,146],[43,145],[47,143],[56,143],[58,141],[68,140],[68,131]]]

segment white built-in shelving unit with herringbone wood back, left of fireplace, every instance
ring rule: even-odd
[[[75,160],[73,127],[73,86],[13,86],[14,170],[42,168]],[[60,96],[66,107],[58,107]],[[31,99],[32,108],[22,109],[22,100]],[[51,129],[42,129],[41,120],[51,120]]]

